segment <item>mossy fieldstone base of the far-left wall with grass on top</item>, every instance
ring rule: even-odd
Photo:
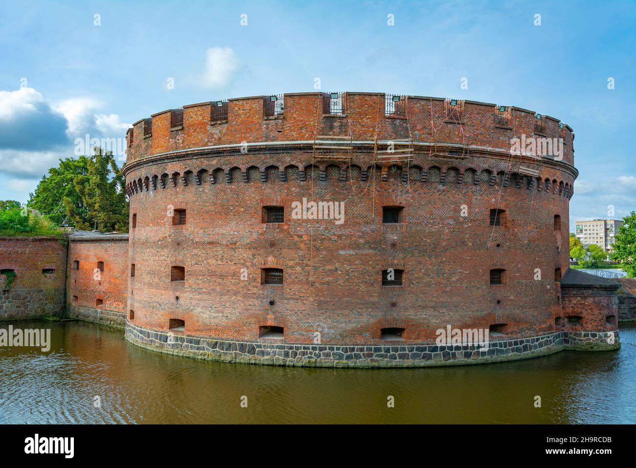
[[[64,288],[11,288],[0,296],[0,320],[62,315],[64,299]]]

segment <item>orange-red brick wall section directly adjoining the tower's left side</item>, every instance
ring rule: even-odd
[[[74,262],[79,262],[79,269],[74,269]],[[99,262],[104,263],[104,271]],[[67,314],[123,327],[128,303],[128,234],[71,236],[68,272]]]

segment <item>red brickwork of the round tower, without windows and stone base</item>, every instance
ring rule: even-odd
[[[263,99],[255,97],[230,100],[226,124],[209,125],[209,103],[184,107],[183,130],[170,131],[169,112],[153,117],[151,138],[141,138],[143,122],[135,124],[125,169],[137,214],[128,261],[135,324],[167,330],[170,318],[181,318],[186,332],[232,339],[256,339],[259,326],[278,325],[286,341],[310,342],[319,331],[323,343],[370,343],[383,327],[428,340],[449,323],[508,323],[515,336],[555,330],[554,269],[568,267],[576,178],[569,127],[564,161],[544,159],[541,176],[530,180],[518,173],[521,158],[509,155],[513,135],[534,132],[530,111],[515,109],[513,128],[505,129],[495,127],[490,104],[464,103],[460,125],[445,122],[439,99],[409,97],[408,118],[385,117],[382,94],[345,99],[347,117],[323,117],[321,95],[309,93],[287,94],[282,118],[263,118]],[[547,134],[560,133],[558,121],[547,118],[546,126]],[[328,160],[333,153],[314,157],[311,144],[293,143],[349,128],[354,141],[373,141],[377,129],[378,139],[411,134],[438,146],[417,148],[408,170],[398,163],[391,171],[389,164],[373,169],[373,145],[357,144],[351,160]],[[242,141],[256,145],[247,153],[197,149]],[[276,141],[292,143],[263,144]],[[464,148],[448,155],[443,143]],[[165,188],[162,174],[170,176]],[[291,204],[303,197],[344,202],[345,222],[292,219]],[[404,222],[382,225],[383,204],[404,206]],[[261,222],[266,205],[285,207],[282,225]],[[187,210],[186,225],[172,225],[170,208]],[[490,227],[492,208],[506,209],[505,226]],[[186,280],[170,281],[170,266],[184,266]],[[284,286],[261,285],[261,267],[283,268]],[[403,287],[382,287],[387,267],[404,269]],[[508,271],[505,285],[490,285],[492,268]]]

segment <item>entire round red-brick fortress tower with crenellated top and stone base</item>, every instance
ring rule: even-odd
[[[329,366],[480,361],[426,348],[448,325],[490,330],[508,350],[494,359],[567,346],[581,330],[559,324],[570,127],[474,101],[331,96],[192,104],[128,131],[127,338]],[[515,137],[563,152],[511,155]]]

